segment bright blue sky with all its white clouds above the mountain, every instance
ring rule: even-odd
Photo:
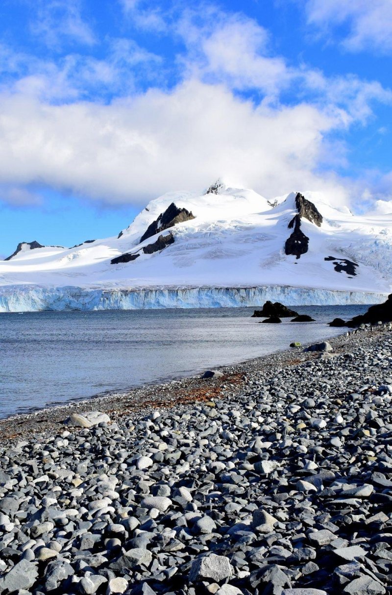
[[[391,0],[2,0],[0,256],[220,178],[392,211]]]

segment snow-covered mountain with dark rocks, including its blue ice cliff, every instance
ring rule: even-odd
[[[392,214],[220,183],[151,201],[118,236],[22,242],[0,262],[0,311],[372,303],[391,287]]]

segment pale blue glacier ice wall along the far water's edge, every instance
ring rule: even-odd
[[[236,308],[266,300],[288,306],[381,303],[386,294],[331,291],[281,285],[260,287],[155,287],[83,289],[81,287],[0,287],[0,312],[137,310],[156,308]]]

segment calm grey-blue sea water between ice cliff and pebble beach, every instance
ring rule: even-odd
[[[0,418],[332,337],[327,322],[368,306],[295,309],[316,322],[258,324],[253,308],[0,314]]]

